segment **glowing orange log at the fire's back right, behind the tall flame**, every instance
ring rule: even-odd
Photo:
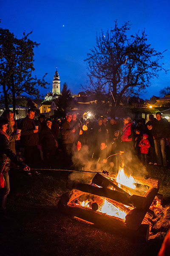
[[[112,175],[111,177],[113,179],[116,179],[117,175]],[[160,187],[160,180],[158,179],[153,179],[153,178],[145,179],[143,177],[136,177],[136,176],[132,176],[132,177],[135,180],[135,183],[137,184],[147,185],[149,187],[153,187],[156,189]]]

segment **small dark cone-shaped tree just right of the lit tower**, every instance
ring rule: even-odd
[[[71,91],[67,88],[67,84],[64,83],[57,102],[57,116],[65,117],[65,114],[72,108],[74,108],[74,99]]]

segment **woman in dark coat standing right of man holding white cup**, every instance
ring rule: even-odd
[[[57,135],[51,127],[52,121],[48,118],[45,127],[40,131],[40,143],[42,144],[43,158],[47,168],[54,166],[57,150]]]

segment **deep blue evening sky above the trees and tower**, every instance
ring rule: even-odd
[[[88,84],[87,65],[84,59],[95,45],[96,32],[106,31],[118,20],[132,24],[130,34],[145,28],[148,44],[164,51],[164,67],[170,68],[170,1],[169,0],[0,0],[0,26],[14,32],[17,38],[23,32],[33,33],[30,39],[40,43],[34,50],[34,67],[37,78],[48,73],[52,90],[54,73],[59,72],[61,88],[64,82],[72,93]],[[170,86],[170,72],[159,74],[152,80],[143,99],[159,96],[164,86]]]

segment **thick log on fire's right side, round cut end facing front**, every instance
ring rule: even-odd
[[[144,197],[146,198],[146,207],[144,209],[133,209],[126,215],[125,222],[128,228],[132,230],[137,230],[140,227],[144,216],[147,213],[150,205],[152,204],[158,190],[159,189],[156,188],[150,188],[144,195]]]

